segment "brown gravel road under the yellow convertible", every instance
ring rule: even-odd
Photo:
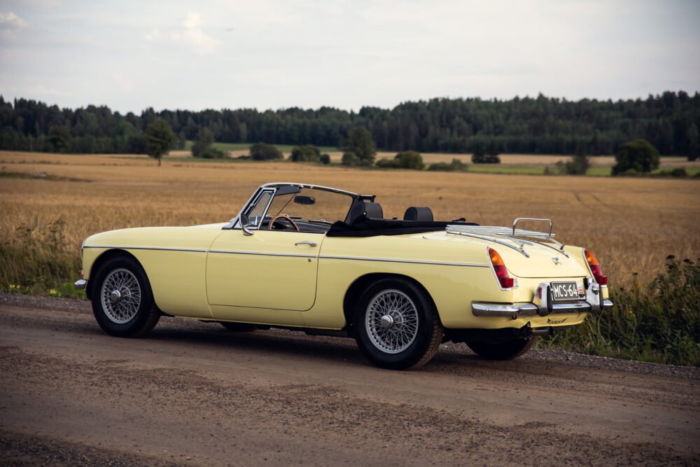
[[[0,295],[0,375],[3,466],[700,464],[697,368],[443,344],[393,372],[347,339],[118,339],[87,302]]]

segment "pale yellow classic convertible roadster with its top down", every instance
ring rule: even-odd
[[[427,207],[388,219],[374,195],[305,183],[260,186],[228,223],[103,232],[82,253],[76,287],[111,335],[146,335],[163,314],[302,330],[354,337],[392,369],[446,341],[514,358],[612,307],[596,256],[557,242],[548,219],[492,227]]]

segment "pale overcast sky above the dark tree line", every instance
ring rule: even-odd
[[[699,25],[698,0],[0,0],[0,93],[136,113],[692,94]]]

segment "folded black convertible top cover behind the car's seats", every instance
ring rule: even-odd
[[[328,237],[376,237],[377,235],[405,235],[444,230],[447,225],[478,225],[475,223],[456,223],[447,221],[393,221],[391,219],[360,218],[352,224],[337,221],[330,226]]]

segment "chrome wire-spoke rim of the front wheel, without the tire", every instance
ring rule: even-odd
[[[100,291],[102,309],[110,321],[128,323],[141,307],[141,286],[134,273],[120,268],[109,272]]]

